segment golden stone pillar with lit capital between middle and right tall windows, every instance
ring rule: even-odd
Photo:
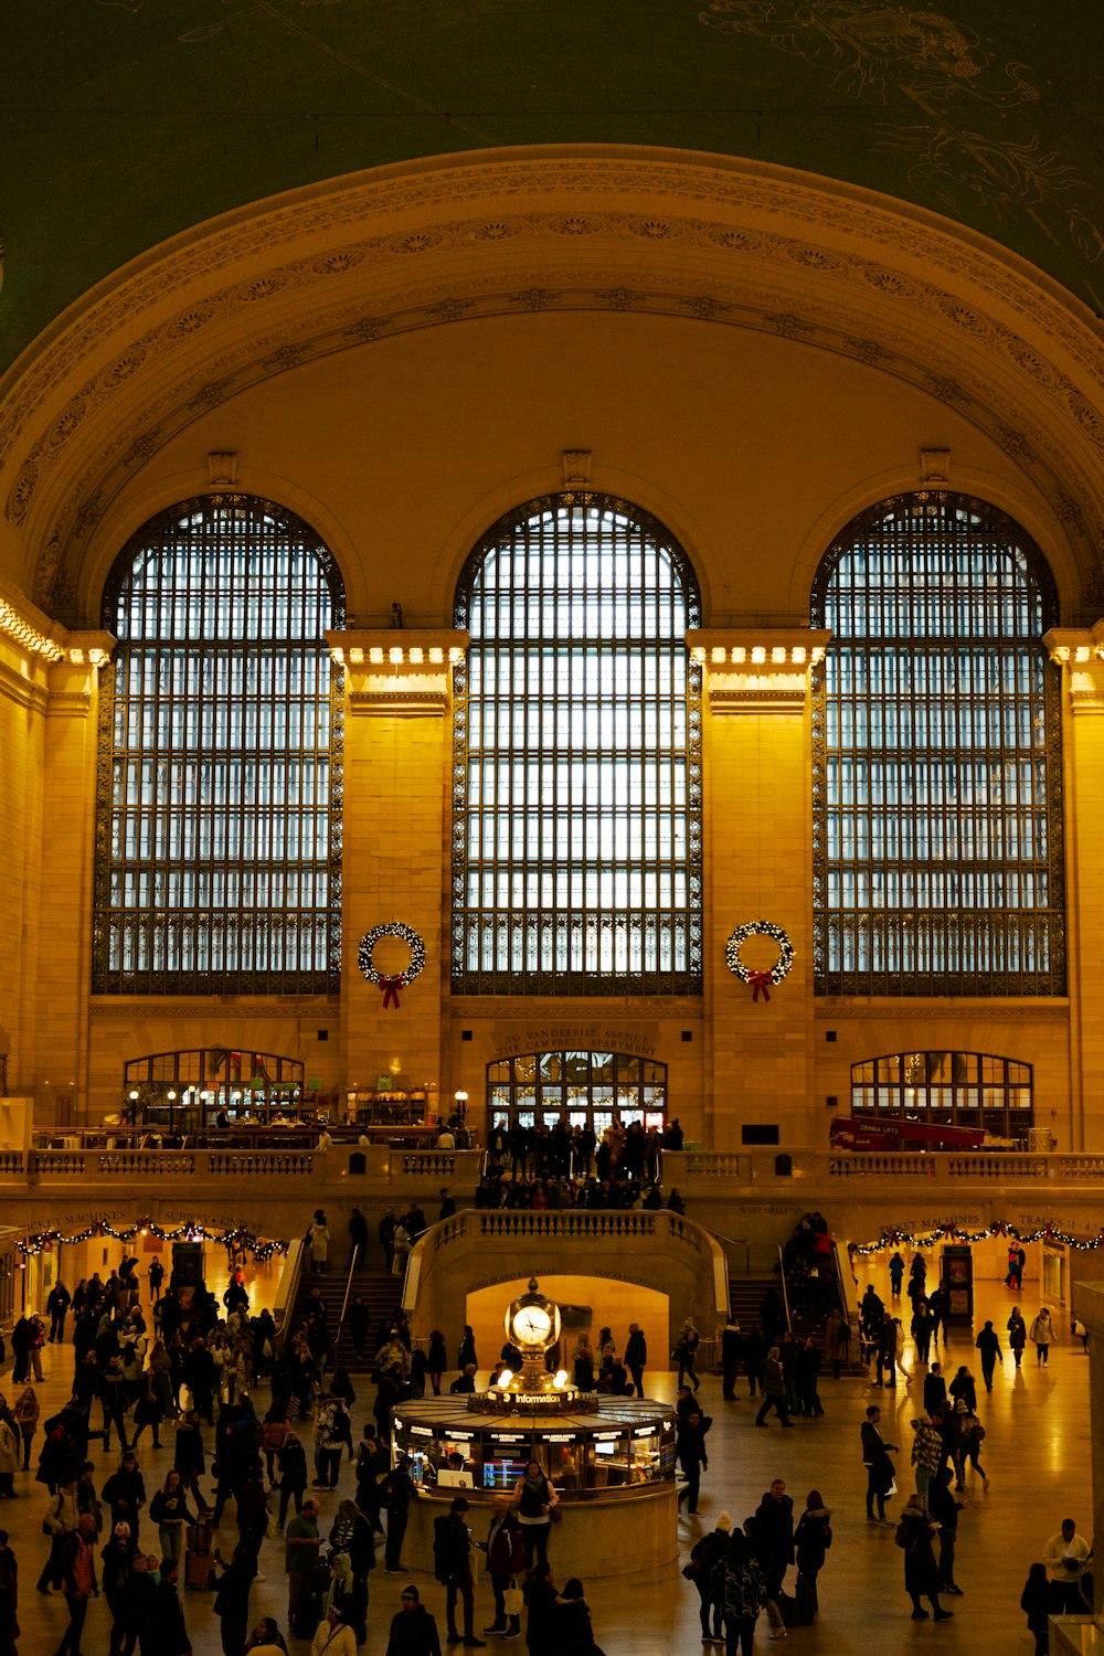
[[[743,1128],[778,1128],[778,1149],[811,1143],[813,1028],[809,672],[829,633],[745,628],[687,633],[705,704],[705,1119],[713,1149],[740,1149]],[[770,1000],[735,977],[725,946],[737,926],[768,921],[793,944]],[[750,937],[750,972],[778,944]],[[707,1129],[708,1131],[708,1129]],[[758,1139],[758,1134],[756,1134]]]

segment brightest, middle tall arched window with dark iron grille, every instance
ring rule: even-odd
[[[530,500],[468,558],[455,624],[452,989],[700,994],[694,571],[637,507]]]

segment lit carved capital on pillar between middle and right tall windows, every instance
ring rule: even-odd
[[[702,664],[712,714],[803,714],[809,672],[831,641],[824,628],[702,628],[687,649]]]

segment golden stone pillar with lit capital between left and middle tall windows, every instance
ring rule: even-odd
[[[328,633],[346,679],[341,1068],[348,1085],[440,1081],[442,1004],[449,990],[447,823],[452,666],[467,634],[452,629]],[[415,982],[384,1005],[358,964],[361,939],[404,922],[425,944]],[[399,975],[410,951],[376,944],[372,965]],[[391,997],[394,999],[394,997]]]

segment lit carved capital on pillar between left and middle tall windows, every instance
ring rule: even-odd
[[[346,674],[353,715],[442,717],[452,667],[468,634],[454,628],[371,628],[326,633],[329,656]]]

